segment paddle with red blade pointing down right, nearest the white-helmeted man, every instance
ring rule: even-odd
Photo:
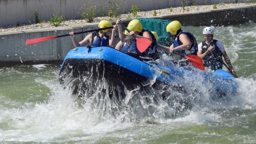
[[[160,44],[158,44],[158,46],[160,48],[162,48],[163,50],[167,51],[167,49],[164,46],[162,46]],[[183,55],[175,53],[175,52],[173,52],[173,54],[177,54],[177,55],[179,55],[179,56],[189,60],[190,63],[192,63],[193,66],[195,66],[196,68],[199,68],[202,71],[204,70],[203,61],[202,61],[202,59],[199,56],[196,56],[196,55],[183,56]]]

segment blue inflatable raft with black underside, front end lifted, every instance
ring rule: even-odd
[[[180,78],[189,78],[192,81],[211,83],[222,93],[234,93],[238,84],[234,76],[224,70],[205,72],[198,69],[189,71],[176,66],[160,66],[155,63],[140,61],[133,56],[110,47],[78,47],[66,55],[59,71],[60,81],[72,73],[75,78],[90,76],[97,81],[105,78],[113,86],[133,89],[144,85],[149,80],[155,83],[172,83]]]

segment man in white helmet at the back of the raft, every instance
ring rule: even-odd
[[[212,70],[222,69],[223,59],[231,69],[233,75],[235,75],[235,69],[233,68],[229,56],[226,54],[224,45],[222,42],[213,39],[214,31],[211,27],[205,27],[203,30],[205,41],[198,44],[197,56],[201,57],[204,61],[204,69],[211,68]]]

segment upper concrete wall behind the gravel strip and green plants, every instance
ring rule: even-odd
[[[81,18],[84,5],[91,1],[98,4],[97,15],[101,15],[102,6],[106,8],[109,0],[0,0],[0,27],[8,24],[34,23],[34,9],[39,12],[39,20],[50,20],[52,14],[60,12],[68,19]],[[128,12],[132,5],[139,5],[140,10],[154,10],[166,7],[177,7],[181,0],[118,0],[123,12]],[[185,0],[186,5],[192,5],[194,0]],[[252,2],[253,0],[238,0]],[[197,0],[198,5],[204,5],[206,0]],[[234,3],[235,0],[209,0],[209,4]]]

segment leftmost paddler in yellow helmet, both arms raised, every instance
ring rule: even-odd
[[[98,24],[98,28],[112,27],[113,24],[107,20],[101,20]],[[75,47],[79,46],[89,46],[89,47],[97,47],[97,46],[110,46],[113,47],[113,42],[115,41],[115,30],[117,28],[116,25],[113,26],[112,29],[104,29],[92,34],[88,34],[82,41],[76,41],[74,32],[70,32],[70,37],[73,41]],[[110,34],[111,35],[111,39]]]

